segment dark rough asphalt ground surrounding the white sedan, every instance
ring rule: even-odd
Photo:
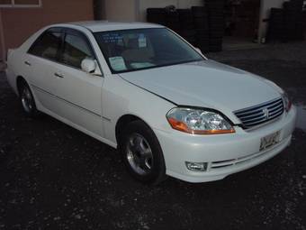
[[[143,186],[111,147],[26,118],[0,73],[0,229],[306,229],[306,43],[209,57],[287,90],[301,111],[290,147],[220,181]]]

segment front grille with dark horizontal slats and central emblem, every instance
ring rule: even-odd
[[[284,103],[282,98],[234,112],[246,129],[272,121],[280,115],[283,115],[283,113]]]

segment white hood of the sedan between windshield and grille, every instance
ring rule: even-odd
[[[279,88],[269,84],[265,78],[213,60],[120,75],[130,83],[180,106],[232,112],[280,97]]]

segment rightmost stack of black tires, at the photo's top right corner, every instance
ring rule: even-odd
[[[284,3],[284,32],[287,41],[302,40],[303,0],[291,0]]]

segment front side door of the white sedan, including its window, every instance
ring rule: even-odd
[[[85,130],[102,136],[103,77],[81,69],[85,58],[96,60],[83,32],[66,29],[56,72],[57,113]]]

